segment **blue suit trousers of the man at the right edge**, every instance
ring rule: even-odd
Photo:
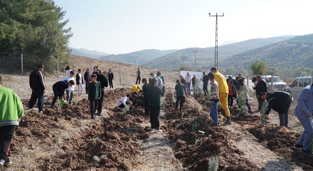
[[[311,118],[300,119],[299,117],[298,117],[298,119],[299,119],[301,125],[303,126],[304,131],[301,134],[297,144],[302,145],[303,150],[308,150],[309,142],[310,142],[310,139],[311,139],[311,136],[313,133],[313,126],[312,126],[312,121],[311,121],[312,119]]]

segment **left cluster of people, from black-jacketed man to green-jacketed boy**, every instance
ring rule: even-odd
[[[28,109],[33,109],[36,101],[38,100],[38,109],[39,112],[43,110],[43,101],[45,94],[45,79],[42,74],[45,66],[43,64],[39,64],[37,69],[29,75],[29,85],[32,89],[32,95],[29,100]],[[113,72],[111,68],[109,72],[103,72],[99,70],[98,66],[94,67],[94,71],[90,74],[89,68],[86,70],[84,76],[81,73],[81,69],[78,69],[78,73],[76,74],[76,78],[74,78],[74,71],[71,65],[66,66],[66,74],[61,81],[55,83],[52,86],[53,90],[53,100],[51,103],[51,107],[54,107],[57,99],[66,100],[67,104],[72,104],[72,99],[74,95],[75,85],[77,86],[77,94],[78,96],[84,96],[84,80],[86,85],[86,94],[88,94],[88,99],[90,101],[90,115],[92,119],[95,119],[95,115],[102,116],[102,105],[104,98],[104,88],[110,85],[110,88],[113,88],[112,80],[114,79]],[[67,96],[65,96],[65,92]],[[97,111],[97,113],[95,113]]]

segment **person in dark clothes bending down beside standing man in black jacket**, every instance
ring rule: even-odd
[[[74,84],[75,84],[75,82],[73,80],[70,80],[69,82],[67,82],[66,80],[65,81],[56,82],[52,86],[54,97],[53,97],[53,100],[52,100],[52,103],[51,103],[51,107],[54,106],[54,104],[55,104],[55,102],[57,101],[58,98],[60,99],[61,97],[63,97],[63,99],[66,99],[65,95],[64,95],[65,89],[67,89],[68,86],[72,86]]]

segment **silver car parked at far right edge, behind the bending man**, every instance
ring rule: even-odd
[[[289,92],[293,97],[298,98],[302,89],[313,83],[312,80],[312,76],[297,77],[291,85],[285,88],[285,91]]]

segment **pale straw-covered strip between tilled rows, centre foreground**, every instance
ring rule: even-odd
[[[160,115],[164,115],[164,109],[161,109]],[[150,123],[144,123],[150,127]],[[160,121],[162,126],[164,123]],[[141,141],[141,154],[137,155],[138,161],[142,165],[136,167],[133,171],[180,171],[182,166],[174,156],[173,147],[170,145],[164,132],[150,132],[150,137]]]

